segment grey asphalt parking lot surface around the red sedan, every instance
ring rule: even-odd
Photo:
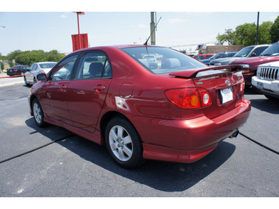
[[[127,170],[105,146],[54,125],[37,127],[29,114],[30,88],[22,77],[7,79],[0,79],[2,197],[279,196],[279,102],[252,88],[245,91],[250,118],[236,139],[192,164],[147,160]]]

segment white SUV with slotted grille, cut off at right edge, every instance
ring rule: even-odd
[[[252,86],[270,100],[279,100],[279,61],[265,63],[257,68],[252,77]]]

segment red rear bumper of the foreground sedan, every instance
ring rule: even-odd
[[[250,101],[243,98],[232,111],[209,119],[206,116],[172,121],[130,116],[143,142],[146,159],[195,162],[210,153],[220,141],[246,123]]]

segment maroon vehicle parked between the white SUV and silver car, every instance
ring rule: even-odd
[[[251,86],[252,77],[257,73],[257,67],[265,63],[279,61],[279,42],[274,43],[264,50],[259,56],[246,59],[238,59],[229,63],[229,65],[242,65],[242,74],[246,86]],[[271,73],[271,71],[269,71]]]

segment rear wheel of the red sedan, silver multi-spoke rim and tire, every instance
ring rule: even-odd
[[[144,162],[142,141],[135,127],[123,117],[115,117],[105,130],[107,150],[121,167],[132,169]]]

